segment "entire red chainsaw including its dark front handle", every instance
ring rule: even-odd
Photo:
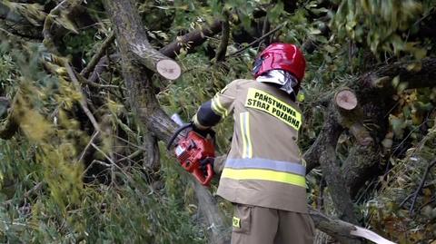
[[[187,129],[193,129],[193,123],[183,124],[174,132],[166,149],[170,151],[174,140],[181,132]],[[215,158],[214,132],[208,130],[205,132],[209,137],[191,130],[177,142],[174,148],[175,157],[180,162],[183,169],[193,174],[193,177],[203,186],[209,186],[213,179],[212,163]]]

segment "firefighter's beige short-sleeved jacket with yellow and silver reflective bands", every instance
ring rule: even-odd
[[[232,148],[218,195],[235,203],[307,212],[305,165],[297,146],[302,112],[270,83],[235,80],[193,116],[201,129],[233,113]]]

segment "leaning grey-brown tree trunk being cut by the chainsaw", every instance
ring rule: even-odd
[[[141,18],[134,7],[133,0],[104,0],[104,8],[114,24],[116,40],[123,62],[124,82],[131,107],[139,117],[139,123],[142,125],[144,132],[148,134],[150,133],[148,130],[150,130],[154,132],[158,139],[169,142],[176,129],[176,124],[161,109],[154,95],[154,87],[149,78],[150,73],[144,69],[145,63],[154,62],[154,59],[151,59],[150,62],[144,62],[146,60],[144,55],[154,55],[159,52],[148,44],[143,24],[140,23]],[[146,48],[146,52],[138,50],[137,46]],[[138,54],[138,52],[143,53]],[[153,162],[154,159],[151,157],[155,153],[147,151],[147,155],[149,157],[145,161]],[[213,202],[212,194],[203,188],[196,187],[195,194],[201,204]],[[216,206],[213,208],[216,208]],[[211,211],[207,208],[201,208],[200,210],[207,221],[206,226],[222,226],[220,221],[223,223],[224,219],[220,211],[217,209]],[[213,243],[223,243],[222,237],[223,235],[217,235],[213,229],[211,235]]]

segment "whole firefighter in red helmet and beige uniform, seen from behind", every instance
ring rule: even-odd
[[[222,171],[217,194],[234,204],[233,244],[313,242],[297,146],[304,69],[297,46],[271,44],[254,62],[255,80],[229,83],[193,116],[201,132],[233,113],[232,148],[225,164],[213,165]]]

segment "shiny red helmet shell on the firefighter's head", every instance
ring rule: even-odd
[[[270,44],[260,54],[253,67],[254,78],[271,70],[284,70],[292,73],[302,82],[306,61],[302,51],[294,44]]]

